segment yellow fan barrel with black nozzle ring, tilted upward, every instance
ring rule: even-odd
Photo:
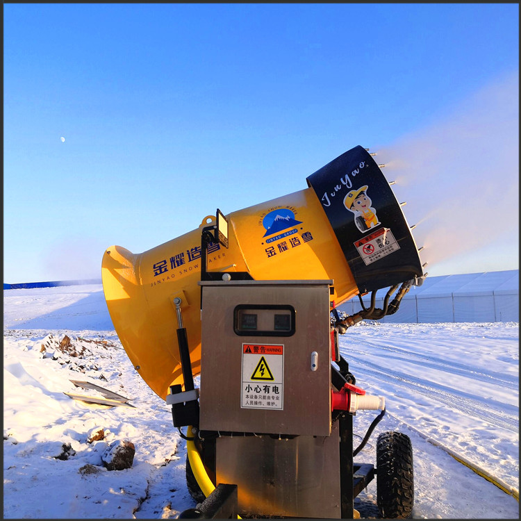
[[[307,178],[308,188],[226,215],[229,245],[208,247],[206,269],[255,280],[332,279],[331,307],[422,275],[402,209],[362,147]],[[358,210],[359,207],[360,209]],[[192,371],[201,368],[201,233],[133,254],[106,249],[102,281],[115,330],[135,370],[163,399],[183,383],[174,299],[181,299]]]

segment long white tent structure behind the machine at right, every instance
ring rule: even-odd
[[[377,308],[383,308],[386,292],[378,291]],[[368,308],[370,295],[363,302]],[[354,298],[338,311],[353,315],[361,308]],[[427,276],[404,296],[397,313],[380,322],[519,322],[519,270]]]

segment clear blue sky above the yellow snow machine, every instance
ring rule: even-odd
[[[407,156],[422,135],[454,132],[463,152],[508,142],[497,175],[513,190],[518,136],[501,131],[518,126],[518,15],[517,3],[4,4],[4,282],[99,278],[106,247],[140,253],[217,207],[303,190],[358,144]],[[465,141],[451,122],[480,126],[483,106],[506,123]],[[443,169],[440,156],[429,164]],[[485,234],[429,272],[517,268],[513,204],[515,223],[496,225],[502,255]]]

